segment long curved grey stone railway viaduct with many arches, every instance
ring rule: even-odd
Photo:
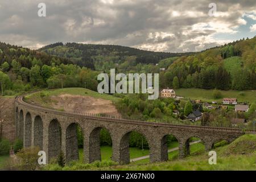
[[[101,160],[100,130],[105,128],[112,137],[112,160],[119,164],[130,162],[129,134],[137,131],[146,137],[150,147],[150,162],[168,160],[167,135],[179,142],[179,155],[189,155],[189,138],[197,137],[210,150],[215,142],[232,142],[243,135],[241,129],[175,125],[132,121],[120,118],[96,117],[75,111],[57,111],[27,104],[23,96],[15,98],[16,136],[23,139],[24,147],[38,146],[46,152],[47,163],[64,152],[67,161],[79,158],[76,128],[84,133],[85,163]]]

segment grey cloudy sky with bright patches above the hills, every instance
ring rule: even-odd
[[[186,52],[255,35],[255,0],[0,0],[0,42],[32,49],[81,42]]]

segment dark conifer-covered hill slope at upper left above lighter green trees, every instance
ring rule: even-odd
[[[28,48],[13,46],[10,44],[0,42],[0,65],[3,63],[8,63],[9,65],[20,64],[21,67],[25,67],[30,69],[34,65],[51,65],[55,63],[57,65],[63,64],[71,64],[72,62],[63,57],[57,57],[48,55],[44,52],[39,52],[35,50],[31,50]],[[7,70],[8,71],[8,70]]]

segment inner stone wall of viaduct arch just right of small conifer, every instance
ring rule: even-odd
[[[66,160],[67,162],[71,160],[79,159],[79,147],[77,140],[77,127],[80,126],[79,123],[71,123],[66,129]],[[81,127],[81,126],[80,126]]]

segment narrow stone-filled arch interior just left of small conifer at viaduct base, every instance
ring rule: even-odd
[[[57,119],[49,123],[48,129],[48,158],[49,161],[61,152],[61,126]]]

